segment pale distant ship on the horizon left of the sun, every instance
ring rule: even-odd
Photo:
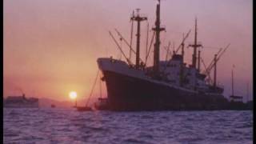
[[[38,101],[38,98],[26,98],[25,94],[22,94],[22,96],[8,96],[3,102],[3,107],[38,108]]]

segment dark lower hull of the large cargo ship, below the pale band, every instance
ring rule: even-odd
[[[226,98],[102,70],[111,110],[224,110]]]

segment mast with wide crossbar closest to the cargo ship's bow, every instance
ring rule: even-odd
[[[136,69],[139,68],[139,44],[140,44],[140,29],[141,29],[141,22],[144,21],[144,20],[147,20],[146,17],[140,17],[138,11],[140,9],[137,9],[137,16],[133,16],[130,18],[130,20],[132,21],[137,21],[137,43],[136,43]]]

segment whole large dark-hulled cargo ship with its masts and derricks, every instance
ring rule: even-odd
[[[197,39],[197,18],[195,18],[194,43],[188,45],[194,51],[192,64],[187,65],[184,62],[184,42],[190,31],[170,58],[167,57],[168,50],[166,60],[160,60],[160,33],[165,30],[165,27],[160,24],[160,1],[158,1],[156,19],[152,28],[154,62],[153,66],[146,66],[147,59],[143,61],[140,57],[140,24],[147,18],[138,13],[133,14],[130,20],[137,22],[136,50],[133,50],[131,44],[118,30],[116,31],[130,47],[130,53],[136,54],[135,63],[131,62],[130,56],[124,54],[111,32],[110,36],[114,39],[125,61],[112,57],[97,60],[98,68],[102,71],[101,79],[106,82],[109,110],[228,110],[230,108],[229,100],[222,94],[223,86],[217,84],[217,62],[229,45],[219,50],[218,54],[214,54],[210,65],[205,66],[205,70],[201,70],[200,65],[203,60],[200,58],[199,48],[202,48],[202,44]],[[148,54],[150,50],[146,57]],[[213,79],[210,76],[211,70],[214,70]]]

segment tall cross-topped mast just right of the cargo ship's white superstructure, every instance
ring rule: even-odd
[[[195,18],[195,26],[194,26],[194,44],[189,45],[190,47],[194,48],[194,53],[192,55],[192,67],[196,68],[197,63],[197,48],[202,46],[201,44],[198,44],[198,27],[197,27],[197,18]]]

